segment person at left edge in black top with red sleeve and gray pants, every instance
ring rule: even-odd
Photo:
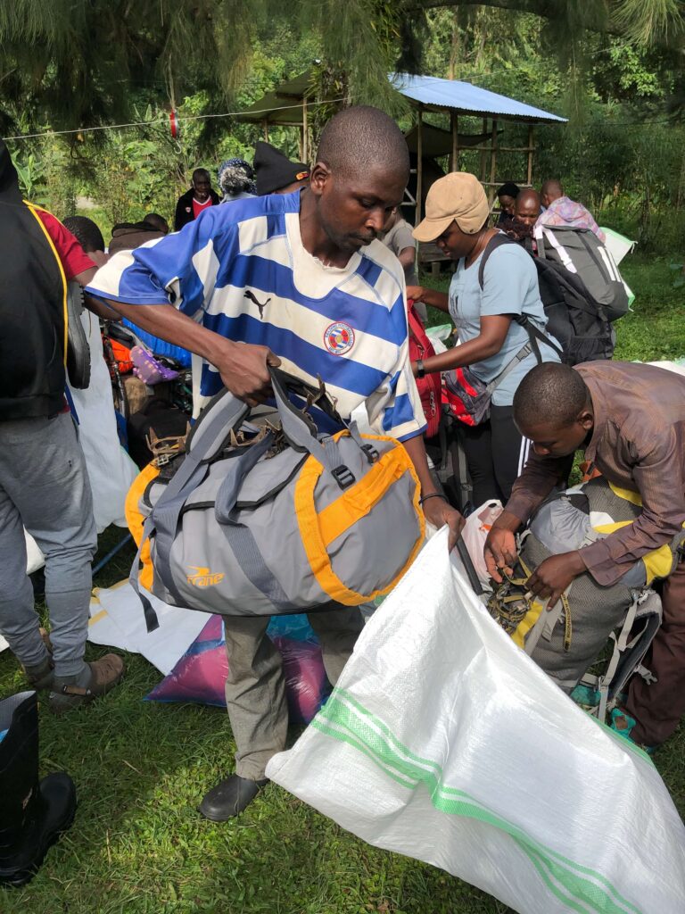
[[[103,695],[123,662],[84,661],[97,548],[92,496],[74,423],[64,410],[67,283],[96,271],[47,210],[22,199],[0,141],[0,633],[29,684],[61,714]],[[26,576],[28,531],[46,562],[53,654],[38,628]]]

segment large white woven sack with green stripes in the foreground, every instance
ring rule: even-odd
[[[651,760],[490,619],[446,537],[375,612],[268,777],[522,914],[682,914],[685,828]]]

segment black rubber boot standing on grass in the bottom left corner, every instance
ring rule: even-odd
[[[74,782],[64,772],[38,782],[35,692],[0,701],[0,884],[23,886],[76,811]]]

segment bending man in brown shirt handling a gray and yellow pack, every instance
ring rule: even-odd
[[[650,550],[668,543],[685,523],[685,377],[648,365],[588,362],[574,368],[546,363],[522,380],[513,419],[532,441],[532,454],[511,490],[485,546],[490,574],[511,568],[514,533],[557,484],[564,484],[578,449],[606,479],[637,491],[642,514],[590,546],[543,561],[529,580],[553,606],[572,580],[589,571],[598,584],[616,583]],[[636,742],[668,739],[685,712],[685,565],[662,590],[663,622],[652,645],[652,685],[630,682],[625,710],[637,723]],[[624,716],[623,721],[630,724]]]

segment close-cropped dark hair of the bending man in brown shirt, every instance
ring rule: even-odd
[[[517,388],[513,419],[519,430],[564,428],[574,423],[589,399],[590,392],[577,371],[557,362],[543,362],[532,368]]]

